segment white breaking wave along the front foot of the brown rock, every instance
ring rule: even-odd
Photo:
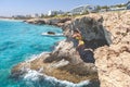
[[[83,80],[81,83],[74,84],[72,82],[61,80],[55,77],[47,76],[44,74],[41,74],[32,70],[28,70],[28,73],[24,76],[24,80],[32,82],[32,84],[34,82],[40,82],[38,84],[41,84],[41,85],[43,85],[42,83],[46,84],[46,82],[49,82],[50,84],[54,85],[54,87],[55,86],[57,87],[82,87],[84,85],[87,86],[90,83],[89,80]]]

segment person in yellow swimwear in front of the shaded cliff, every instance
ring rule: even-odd
[[[80,54],[80,52],[82,52],[84,50],[84,42],[83,42],[81,33],[78,29],[74,30],[73,38],[78,40],[78,45],[77,45],[76,49],[79,51],[79,54]]]

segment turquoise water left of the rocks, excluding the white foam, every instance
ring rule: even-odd
[[[29,82],[10,78],[12,66],[30,59],[35,54],[49,52],[65,37],[48,37],[42,33],[62,29],[48,25],[31,25],[15,21],[0,21],[0,87],[54,87],[53,85],[31,85]],[[36,82],[37,83],[37,82]]]

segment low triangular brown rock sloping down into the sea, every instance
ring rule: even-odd
[[[64,47],[64,49],[61,49],[61,47]],[[29,69],[73,83],[98,79],[95,65],[83,62],[72,47],[73,42],[61,41],[52,53],[41,54],[36,60],[23,62],[14,66],[12,77],[21,78]]]

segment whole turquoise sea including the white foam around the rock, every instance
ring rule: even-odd
[[[62,29],[48,25],[30,25],[23,22],[0,21],[0,87],[88,87],[89,80],[74,84],[60,80],[40,73],[43,69],[27,71],[20,80],[10,78],[11,69],[20,62],[40,58],[43,52],[52,51],[55,42],[64,37],[47,37],[41,33],[54,32],[61,34]]]

